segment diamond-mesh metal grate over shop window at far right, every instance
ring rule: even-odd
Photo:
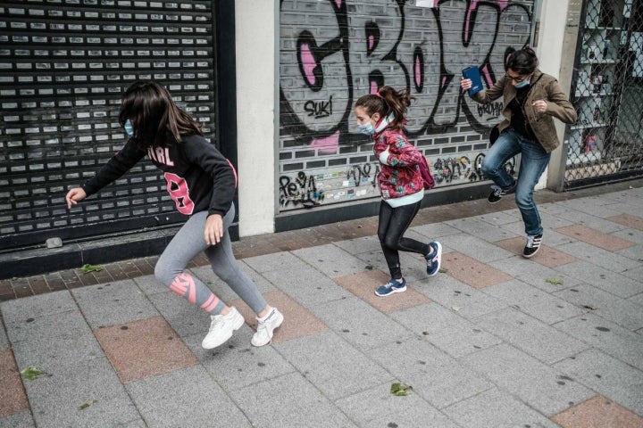
[[[643,0],[584,5],[564,187],[643,174]]]

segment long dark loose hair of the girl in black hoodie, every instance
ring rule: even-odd
[[[170,93],[158,82],[136,82],[121,98],[119,123],[129,119],[134,127],[134,138],[143,148],[162,147],[170,133],[177,142],[181,135],[199,134],[203,125],[182,111]]]

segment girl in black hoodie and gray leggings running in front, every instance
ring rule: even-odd
[[[128,142],[95,177],[67,193],[68,208],[121,177],[147,154],[163,171],[177,210],[188,216],[158,259],[154,276],[211,316],[202,346],[220,346],[245,320],[237,309],[227,306],[196,276],[185,271],[188,262],[205,251],[214,274],[257,314],[252,344],[270,343],[283,316],[263,300],[232,253],[228,227],[235,217],[232,199],[237,173],[230,162],[202,135],[202,124],[182,111],[167,89],[154,81],[129,86],[122,95],[119,122],[129,135]]]

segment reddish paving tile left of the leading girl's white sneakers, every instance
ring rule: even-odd
[[[122,383],[198,363],[163,317],[99,328],[95,334]]]

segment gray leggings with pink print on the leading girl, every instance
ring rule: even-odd
[[[232,253],[228,227],[235,216],[234,205],[223,217],[223,236],[221,242],[216,245],[209,246],[205,243],[207,216],[207,211],[197,212],[180,228],[158,259],[154,276],[160,283],[188,299],[190,303],[198,305],[211,315],[219,314],[225,303],[196,276],[184,270],[191,259],[194,259],[199,252],[205,251],[214,274],[230,285],[232,291],[236,292],[241,300],[244,300],[246,305],[258,314],[265,309],[266,302],[256,284],[238,267],[237,259]]]

